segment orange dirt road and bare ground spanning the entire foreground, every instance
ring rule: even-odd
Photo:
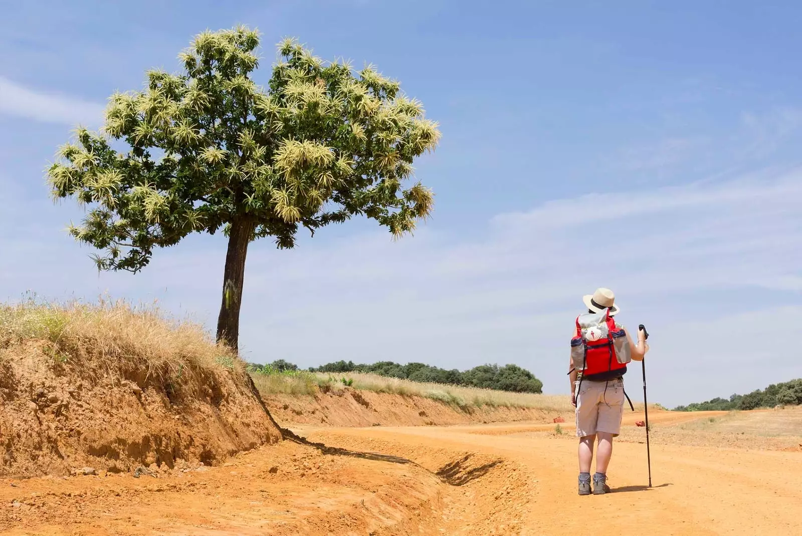
[[[689,418],[663,415],[655,424]],[[564,436],[553,430],[298,429],[339,449],[285,441],[226,466],[176,467],[159,478],[0,482],[0,530],[484,536],[615,526],[618,534],[802,534],[802,453],[653,445],[654,487],[646,489],[645,445],[619,442],[609,470],[614,493],[579,497],[576,441],[569,426]]]

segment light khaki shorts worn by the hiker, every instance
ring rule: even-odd
[[[582,381],[577,393],[577,437],[597,432],[621,433],[624,415],[624,382]]]

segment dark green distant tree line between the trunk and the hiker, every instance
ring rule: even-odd
[[[298,366],[283,359],[266,365],[249,363],[249,369],[261,373],[294,373]],[[440,369],[425,363],[400,365],[393,361],[379,361],[373,365],[356,364],[354,361],[335,361],[319,367],[310,367],[310,373],[372,373],[384,377],[401,378],[409,381],[463,385],[513,393],[542,393],[543,382],[529,370],[518,365],[479,365],[460,372],[457,369]]]

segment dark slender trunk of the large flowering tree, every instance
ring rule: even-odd
[[[217,342],[223,342],[235,352],[239,348],[240,305],[242,283],[245,280],[245,256],[248,253],[252,226],[248,220],[237,218],[229,230],[229,251],[225,254],[223,272],[223,303],[217,317]]]

